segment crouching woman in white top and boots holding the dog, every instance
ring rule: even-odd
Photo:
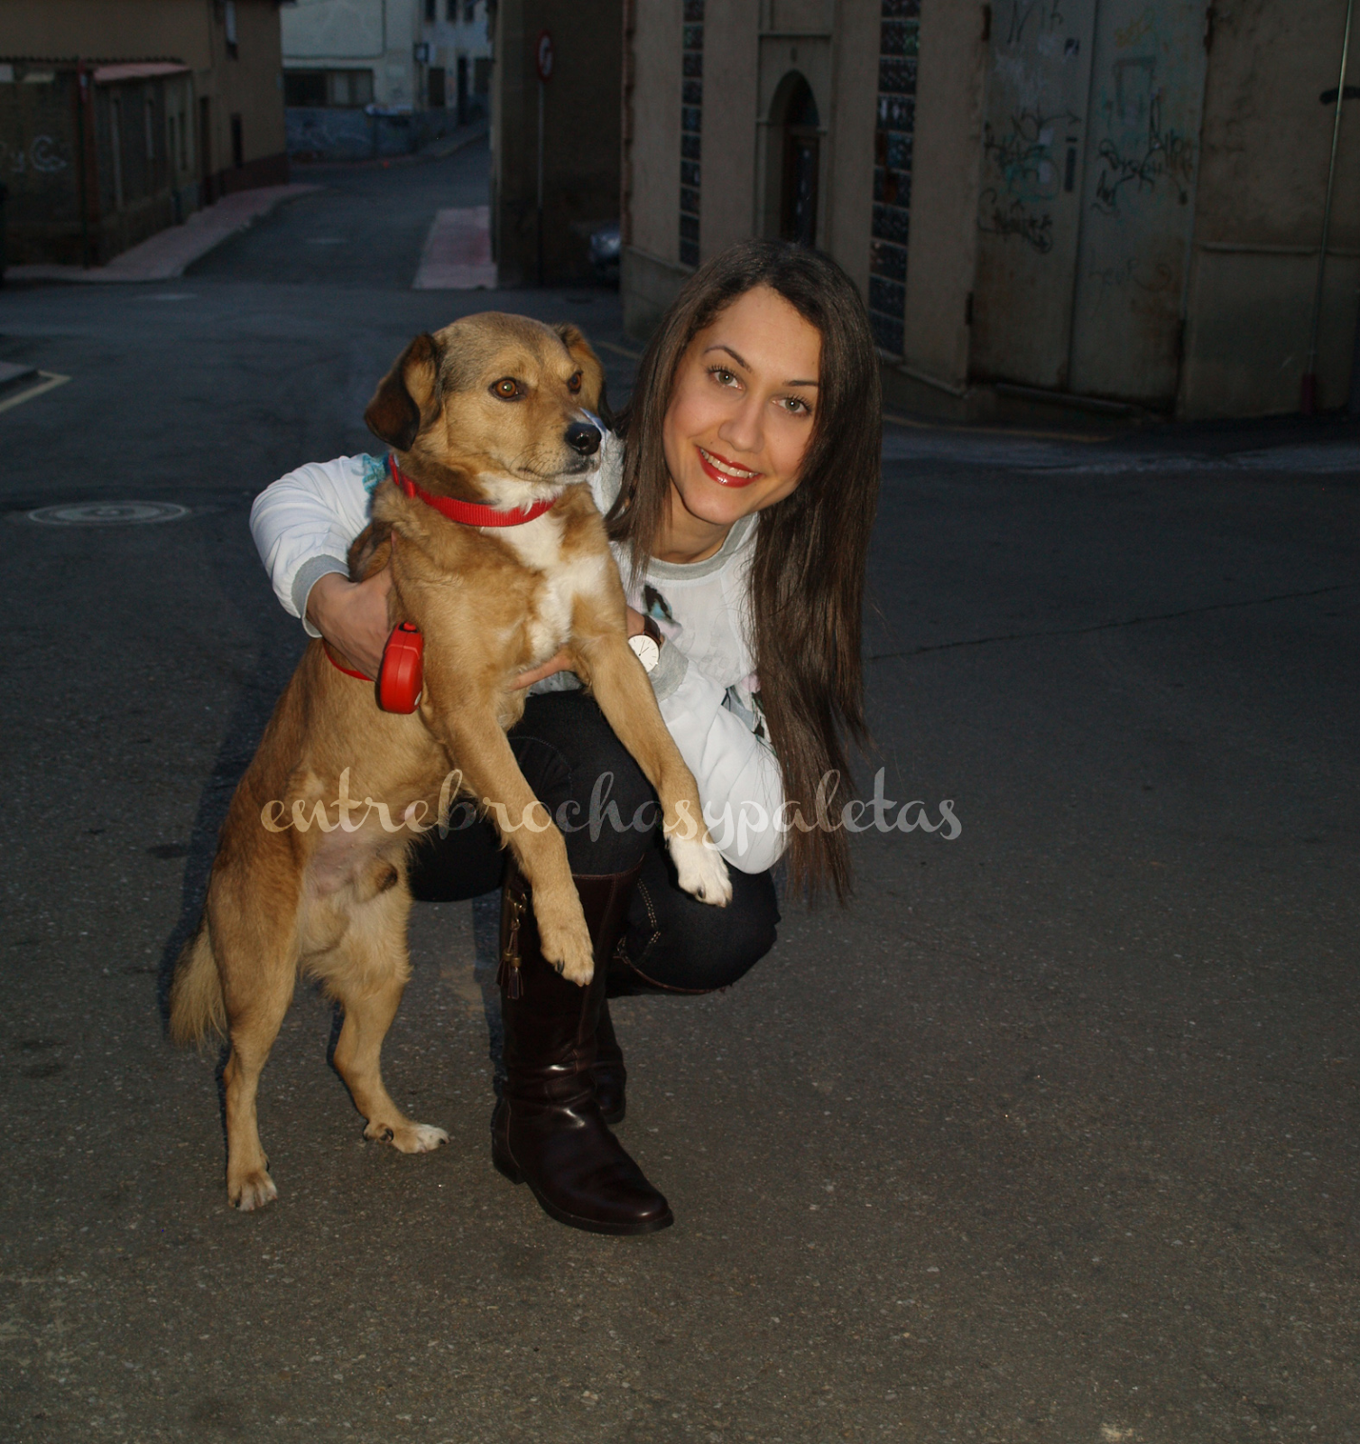
[[[772,946],[771,869],[849,891],[845,835],[817,827],[817,790],[863,732],[865,553],[878,491],[878,358],[863,305],[827,257],[745,241],[696,271],[647,348],[608,438],[595,500],[628,592],[629,632],[732,871],[726,908],[674,885],[651,788],[563,658],[526,673],[511,732],[559,819],[595,941],[579,989],[537,949],[528,888],[488,823],[422,845],[417,897],[474,897],[504,878],[505,1084],[492,1158],[575,1227],[645,1233],[671,1213],[609,1131],[625,1070],[608,996],[702,993]],[[352,585],[375,458],[305,466],[257,500],[251,530],[283,605],[375,676],[385,575]],[[759,518],[759,520],[757,520]],[[650,638],[640,640],[640,638]],[[651,806],[648,806],[651,804]]]

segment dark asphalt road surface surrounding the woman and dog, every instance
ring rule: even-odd
[[[632,348],[605,292],[409,289],[484,178],[328,170],[182,282],[0,295],[0,360],[72,378],[0,414],[0,1437],[1360,1437],[1348,423],[889,429],[863,787],[963,830],[862,833],[849,910],[618,1006],[673,1229],[576,1233],[492,1170],[485,902],[417,910],[385,1050],[452,1147],[362,1141],[303,989],[282,1197],[227,1207],[217,1058],[157,988],[303,641],[250,498],[377,445],[417,329]],[[126,500],[189,510],[27,518]]]

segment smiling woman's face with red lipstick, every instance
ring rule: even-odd
[[[731,527],[787,497],[813,435],[821,334],[768,286],[690,342],[666,413],[666,465],[684,510]]]

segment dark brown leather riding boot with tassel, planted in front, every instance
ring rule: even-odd
[[[605,969],[635,879],[637,869],[573,879],[595,943],[586,988],[543,957],[528,884],[514,865],[501,904],[505,1090],[491,1119],[491,1158],[511,1183],[527,1183],[559,1223],[590,1233],[654,1233],[674,1222],[595,1097]]]

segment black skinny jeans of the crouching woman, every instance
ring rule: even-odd
[[[641,768],[586,692],[533,696],[510,732],[524,778],[566,823],[572,872],[627,872],[642,864],[609,996],[703,993],[726,988],[774,947],[780,910],[768,872],[731,868],[732,901],[699,902],[676,885],[661,838],[661,807]],[[507,853],[495,827],[458,803],[446,838],[429,833],[411,856],[411,892],[458,901],[501,885]]]

